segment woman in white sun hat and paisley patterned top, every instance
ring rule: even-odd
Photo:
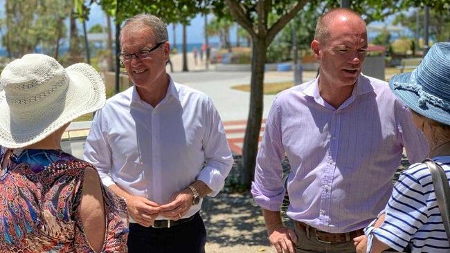
[[[126,252],[125,202],[60,147],[71,120],[105,104],[97,71],[30,54],[0,85],[0,252]]]

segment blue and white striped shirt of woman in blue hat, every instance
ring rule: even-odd
[[[450,156],[433,158],[450,178]],[[409,244],[411,252],[450,252],[431,173],[423,163],[411,165],[404,171],[393,189],[384,210],[386,218],[379,228],[366,229],[368,251],[373,236],[397,251]]]

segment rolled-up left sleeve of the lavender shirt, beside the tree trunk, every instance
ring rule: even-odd
[[[285,156],[281,138],[281,113],[277,100],[272,104],[258,156],[256,157],[255,180],[251,194],[255,203],[263,209],[280,211],[285,197],[281,161]]]

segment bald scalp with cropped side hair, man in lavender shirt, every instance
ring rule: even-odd
[[[337,8],[330,10],[318,19],[314,39],[321,43],[325,43],[327,38],[330,38],[330,27],[332,24],[336,21],[345,20],[350,21],[350,24],[366,27],[366,22],[364,22],[357,12],[346,8]]]

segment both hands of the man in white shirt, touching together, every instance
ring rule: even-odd
[[[190,189],[178,191],[164,205],[141,196],[132,196],[127,199],[128,213],[136,223],[144,227],[153,225],[159,215],[177,221],[189,211],[192,206],[192,198]]]

